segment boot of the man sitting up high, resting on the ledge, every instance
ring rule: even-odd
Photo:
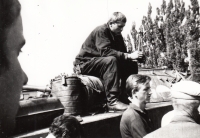
[[[118,95],[118,92],[109,92],[107,94],[107,105],[109,112],[124,111],[128,108],[127,104],[124,104],[118,100]]]

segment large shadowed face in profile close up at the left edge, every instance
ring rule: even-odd
[[[18,56],[25,44],[18,0],[0,0],[0,137],[14,129],[22,86],[27,76]]]

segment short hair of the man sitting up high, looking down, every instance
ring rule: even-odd
[[[114,12],[108,20],[108,24],[117,22],[126,23],[126,16],[121,12]]]

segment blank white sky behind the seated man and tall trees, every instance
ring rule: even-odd
[[[113,12],[127,17],[122,35],[139,28],[152,5],[152,18],[162,0],[19,0],[26,44],[19,56],[28,85],[45,86],[61,73],[73,73],[73,61],[91,31]],[[167,3],[169,0],[166,0]],[[186,4],[189,0],[185,0]]]

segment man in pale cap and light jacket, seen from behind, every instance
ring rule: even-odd
[[[181,81],[171,88],[173,118],[170,123],[144,138],[199,138],[200,84]]]

